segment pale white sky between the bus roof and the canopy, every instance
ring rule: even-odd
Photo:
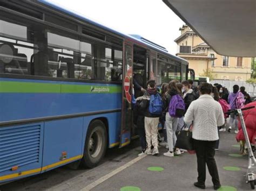
[[[177,53],[174,39],[184,22],[161,0],[49,0],[125,34],[140,36]]]

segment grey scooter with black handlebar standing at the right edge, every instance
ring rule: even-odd
[[[246,183],[250,183],[251,188],[255,189],[255,184],[256,184],[256,160],[252,151],[252,147],[251,147],[251,143],[248,137],[248,133],[246,130],[246,126],[245,126],[245,121],[244,121],[244,117],[242,114],[243,110],[248,110],[248,109],[253,109],[254,106],[252,107],[246,107],[246,108],[242,108],[242,109],[234,109],[234,110],[230,110],[227,112],[227,114],[231,114],[234,113],[236,115],[238,115],[238,117],[240,118],[241,121],[241,126],[242,126],[242,132],[244,132],[244,136],[245,136],[245,142],[247,144],[247,148],[248,148],[248,169],[247,169],[247,173],[245,175],[245,179],[246,179]]]

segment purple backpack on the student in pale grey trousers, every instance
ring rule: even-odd
[[[183,98],[180,95],[174,95],[171,98],[169,104],[169,114],[171,117],[183,117],[185,114],[185,103]]]

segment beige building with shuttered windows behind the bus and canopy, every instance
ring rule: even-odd
[[[189,62],[189,67],[195,70],[196,76],[204,76],[208,69],[212,71],[214,80],[250,79],[252,58],[219,55],[187,25],[179,30],[181,35],[174,40],[178,44],[177,55]]]

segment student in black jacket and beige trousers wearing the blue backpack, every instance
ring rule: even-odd
[[[144,110],[145,116],[145,131],[146,131],[146,142],[147,149],[146,154],[158,154],[158,124],[160,115],[151,114],[149,111],[150,97],[151,95],[159,94],[156,88],[156,82],[154,80],[147,81],[147,89],[142,97],[138,97],[138,100],[142,100],[140,107]],[[160,95],[159,95],[160,96]],[[153,145],[154,149],[151,152],[151,146]]]

